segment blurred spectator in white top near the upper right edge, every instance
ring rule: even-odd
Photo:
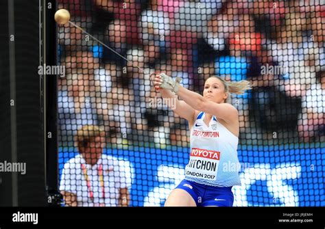
[[[312,72],[319,71],[324,62],[324,50],[321,44],[316,42],[320,36],[305,36],[307,27],[306,19],[301,13],[287,14],[286,25],[278,32],[276,42],[267,40],[267,49],[274,57],[274,62],[287,70],[285,79],[300,79],[305,66],[309,66]],[[312,20],[313,21],[313,20]],[[317,31],[317,29],[315,29]],[[314,33],[315,33],[314,31]],[[317,32],[317,34],[319,34]],[[302,69],[300,69],[302,68]],[[307,73],[307,72],[306,72]]]

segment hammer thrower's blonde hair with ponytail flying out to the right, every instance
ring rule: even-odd
[[[217,79],[219,79],[225,87],[225,92],[228,93],[228,97],[226,98],[226,103],[231,102],[231,96],[230,94],[244,94],[246,90],[251,90],[252,85],[250,81],[247,80],[241,80],[241,81],[226,81],[224,78],[213,76]],[[212,77],[210,77],[212,78]]]

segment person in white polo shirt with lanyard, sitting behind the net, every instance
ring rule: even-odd
[[[131,175],[122,161],[103,154],[105,133],[86,125],[77,131],[79,155],[62,171],[60,191],[67,206],[128,206]]]

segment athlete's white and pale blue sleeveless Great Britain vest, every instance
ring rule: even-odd
[[[238,137],[213,116],[209,126],[200,112],[191,129],[191,154],[185,179],[217,187],[241,185]]]

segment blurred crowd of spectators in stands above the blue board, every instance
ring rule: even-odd
[[[59,27],[60,142],[94,124],[112,144],[188,146],[186,122],[150,103],[160,97],[154,72],[199,93],[213,75],[252,81],[248,94],[232,97],[241,133],[324,141],[324,1],[60,0],[59,8],[127,59],[69,23]]]

